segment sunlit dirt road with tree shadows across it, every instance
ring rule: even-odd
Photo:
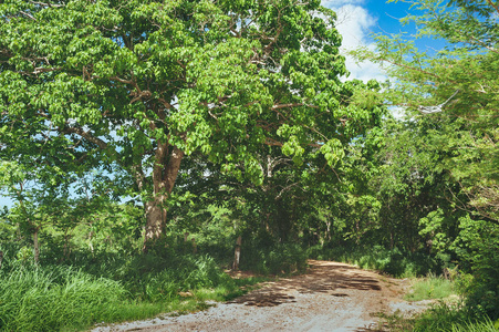
[[[380,313],[418,312],[427,302],[406,302],[409,280],[354,266],[310,260],[305,274],[261,288],[208,310],[94,329],[104,331],[382,331]]]

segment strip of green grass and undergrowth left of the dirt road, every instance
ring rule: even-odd
[[[96,322],[198,310],[206,300],[241,294],[207,256],[96,255],[72,266],[14,262],[0,270],[0,331],[87,329]],[[188,295],[185,295],[185,294]]]

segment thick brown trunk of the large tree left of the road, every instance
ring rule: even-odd
[[[184,152],[168,144],[158,143],[153,168],[153,198],[146,201],[146,229],[143,250],[147,251],[149,243],[157,240],[166,226],[166,201],[177,179]]]

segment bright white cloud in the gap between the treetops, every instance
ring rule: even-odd
[[[323,0],[322,6],[334,10],[337,14],[336,29],[343,37],[342,53],[367,46],[374,49],[374,43],[368,39],[370,30],[376,24],[376,19],[364,8],[363,0]],[[384,81],[386,75],[377,64],[363,62],[356,64],[352,56],[346,55],[346,69],[350,71],[349,79],[368,81],[376,79]]]

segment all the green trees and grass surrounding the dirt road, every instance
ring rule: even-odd
[[[417,35],[351,52],[388,76],[362,82],[318,0],[2,1],[0,330],[201,308],[257,281],[223,269],[308,258],[455,279],[415,330],[499,319],[499,2],[412,2]]]

